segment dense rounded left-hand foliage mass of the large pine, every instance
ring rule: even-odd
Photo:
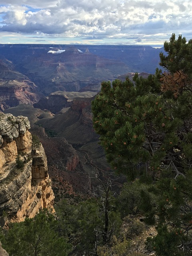
[[[158,87],[155,76],[144,79],[136,74],[134,83],[128,78],[124,82],[115,80],[112,87],[103,82],[101,93],[92,102],[94,128],[100,134],[106,157],[117,172],[123,172],[130,179],[146,169],[137,163],[151,158],[157,162],[164,153],[154,156],[156,145],[149,142],[153,127],[159,133],[166,129],[162,128],[164,101],[160,96],[149,94],[150,86]],[[163,139],[164,136],[159,138]]]

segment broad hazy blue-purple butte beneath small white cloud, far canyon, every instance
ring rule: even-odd
[[[0,53],[1,50],[0,47]],[[118,74],[131,71],[120,59],[109,60],[71,46],[59,54],[50,49],[25,50],[30,53],[20,62],[20,56],[16,58],[15,54],[10,56],[4,51],[4,56],[20,67],[20,72],[30,78],[44,96],[56,91],[78,92],[91,84],[94,87],[102,80],[113,80]]]

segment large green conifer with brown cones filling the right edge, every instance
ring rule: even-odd
[[[144,207],[157,227],[156,254],[187,255],[192,247],[192,40],[176,40],[173,34],[164,50],[160,65],[166,72],[102,82],[92,102],[93,124],[112,168],[147,182],[156,197],[153,207]]]

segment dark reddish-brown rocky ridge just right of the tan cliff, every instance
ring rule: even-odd
[[[61,137],[43,138],[40,136],[40,139],[48,158],[55,201],[58,201],[65,194],[90,195],[90,177],[82,166],[78,152],[72,145]]]

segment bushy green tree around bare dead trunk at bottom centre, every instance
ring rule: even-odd
[[[112,236],[119,234],[122,220],[113,201],[106,190],[100,197],[78,204],[60,202],[57,209],[60,234],[68,236],[75,251],[96,253],[98,245],[110,244]]]

